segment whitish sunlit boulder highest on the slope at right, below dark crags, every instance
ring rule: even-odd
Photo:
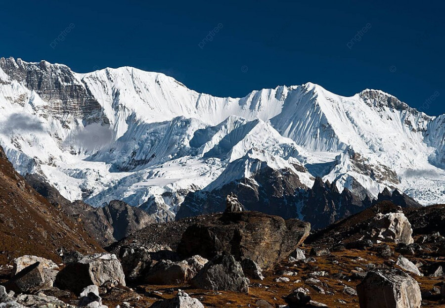
[[[378,213],[368,229],[370,239],[373,241],[411,244],[411,223],[403,213]]]

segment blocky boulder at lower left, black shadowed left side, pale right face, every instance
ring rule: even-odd
[[[95,254],[67,264],[56,277],[55,285],[79,294],[89,285],[101,286],[109,280],[116,280],[125,286],[122,265],[115,255]]]

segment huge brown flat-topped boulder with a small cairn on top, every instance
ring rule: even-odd
[[[187,227],[178,253],[208,259],[226,253],[237,261],[248,258],[263,269],[271,269],[305,240],[310,229],[308,222],[259,212],[209,215]]]

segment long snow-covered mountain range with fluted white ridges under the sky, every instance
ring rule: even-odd
[[[131,67],[78,74],[1,58],[0,145],[69,200],[119,199],[158,220],[184,199],[190,214],[223,187],[259,195],[272,182],[276,207],[305,217],[298,196],[316,177],[360,200],[388,187],[445,203],[445,115],[379,90],[344,97],[307,83],[221,98]]]

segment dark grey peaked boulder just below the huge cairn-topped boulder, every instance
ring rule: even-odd
[[[191,285],[198,289],[249,292],[249,279],[231,255],[213,258],[191,280]]]

